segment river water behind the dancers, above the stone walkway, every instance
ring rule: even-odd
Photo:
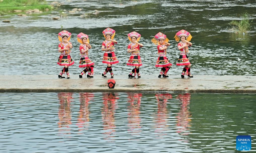
[[[47,3],[53,1],[47,0]],[[103,64],[101,44],[102,31],[111,27],[116,30],[116,56],[119,63],[113,65],[115,74],[127,75],[132,67],[126,65],[130,54],[126,53],[129,44],[127,34],[137,31],[142,35],[140,42],[145,46],[141,52],[143,65],[141,75],[154,74],[157,59],[156,46],[151,39],[158,32],[167,35],[171,46],[167,57],[172,62],[169,75],[180,75],[182,67],[176,66],[179,57],[177,42],[173,37],[181,29],[188,30],[193,36],[188,57],[192,64],[193,75],[255,75],[255,18],[254,0],[59,0],[62,5],[51,12],[32,14],[27,17],[17,15],[0,16],[11,23],[0,22],[1,35],[1,74],[2,75],[58,75],[62,69],[57,65],[59,57],[58,37],[61,30],[72,33],[71,56],[75,64],[69,68],[71,75],[82,71],[79,64],[79,43],[76,35],[80,32],[89,35],[92,49],[89,57],[95,63],[95,74],[101,74]],[[82,11],[69,13],[74,8]],[[60,13],[67,10],[67,16],[59,20]],[[97,10],[97,11],[95,11]],[[241,20],[247,12],[253,19],[251,32],[234,33],[228,24]],[[239,59],[238,59],[239,58]]]

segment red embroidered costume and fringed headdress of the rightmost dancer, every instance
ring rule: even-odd
[[[190,41],[192,36],[189,32],[187,32],[186,30],[180,30],[178,33],[175,34],[175,40],[178,42],[180,40],[180,37],[184,36],[186,38],[186,40]],[[179,42],[178,43],[178,48],[179,47],[182,47],[184,45],[186,45],[187,43],[186,42]],[[190,47],[191,45],[189,45]],[[176,65],[178,66],[185,66],[182,70],[182,73],[181,73],[181,77],[183,78],[184,75],[186,74],[186,71],[187,71],[187,75],[188,77],[193,77],[190,73],[190,67],[186,67],[186,65],[189,65],[190,62],[189,62],[189,59],[188,59],[188,47],[184,47],[182,49],[180,49],[180,57],[178,59],[178,62],[176,63]]]

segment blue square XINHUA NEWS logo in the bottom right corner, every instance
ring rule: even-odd
[[[250,135],[236,136],[236,150],[245,151],[252,149],[252,137]]]

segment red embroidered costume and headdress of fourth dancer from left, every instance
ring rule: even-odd
[[[141,35],[139,33],[134,31],[134,32],[131,32],[131,33],[128,34],[128,39],[130,41],[132,41],[132,37],[135,37],[136,40],[139,41],[140,36]],[[135,67],[134,69],[132,69],[132,72],[128,75],[128,77],[135,77],[136,73],[138,74],[138,77],[140,77],[140,66],[142,65],[142,62],[141,62],[141,59],[140,59],[140,45],[136,44],[136,43],[130,43],[128,45],[127,51],[130,51],[130,50],[133,50],[133,49],[136,49],[136,51],[131,53],[131,57],[128,60],[126,65],[139,66],[139,68],[136,69],[136,67]],[[134,76],[132,76],[133,73],[134,73]]]

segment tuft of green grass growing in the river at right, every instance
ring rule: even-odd
[[[248,18],[248,13],[244,13],[242,20],[240,21],[231,21],[229,25],[232,26],[231,30],[236,33],[247,33],[251,31],[251,23]]]

